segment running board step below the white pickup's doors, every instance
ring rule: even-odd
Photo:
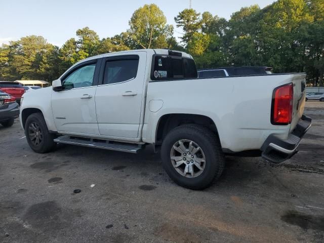
[[[85,146],[91,148],[115,150],[115,151],[128,152],[128,153],[137,153],[139,150],[142,149],[142,147],[140,147],[140,145],[137,144],[124,144],[124,143],[117,143],[117,142],[111,142],[105,140],[86,139],[86,138],[79,138],[79,137],[72,137],[72,136],[60,136],[54,139],[54,142],[71,144],[71,145],[79,145],[79,146]]]

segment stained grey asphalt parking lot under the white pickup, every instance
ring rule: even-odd
[[[37,154],[18,120],[0,126],[0,242],[324,242],[324,102],[305,114],[292,159],[227,157],[204,191],[173,183],[150,147]]]

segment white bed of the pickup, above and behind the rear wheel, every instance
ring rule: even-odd
[[[163,100],[166,108],[161,109],[161,113],[191,113],[211,117],[223,150],[240,152],[260,149],[269,135],[287,139],[289,132],[297,125],[304,109],[305,76],[305,73],[280,73],[154,81],[148,84],[147,104],[150,100]],[[292,124],[272,125],[273,90],[289,83],[294,85]],[[143,137],[152,129],[148,140],[153,141],[155,125],[149,124],[149,117],[163,114],[146,114]]]

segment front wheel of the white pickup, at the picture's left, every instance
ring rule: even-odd
[[[56,145],[55,135],[49,133],[42,113],[33,113],[27,117],[25,135],[29,146],[37,153],[47,153]]]

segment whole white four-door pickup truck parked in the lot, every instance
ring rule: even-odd
[[[137,153],[160,150],[179,185],[203,189],[224,155],[290,158],[311,126],[304,73],[197,78],[192,57],[170,50],[99,55],[53,86],[25,93],[20,122],[38,153],[57,143]]]

